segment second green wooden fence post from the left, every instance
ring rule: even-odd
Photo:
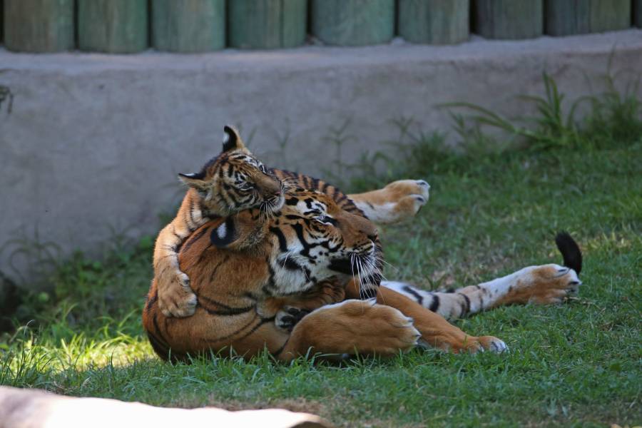
[[[147,49],[147,0],[78,0],[78,48],[133,54]]]

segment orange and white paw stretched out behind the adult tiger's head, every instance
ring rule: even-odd
[[[348,195],[367,218],[377,224],[414,217],[426,205],[430,185],[424,180],[397,180],[382,189]]]

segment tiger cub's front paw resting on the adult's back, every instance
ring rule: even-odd
[[[158,285],[158,307],[165,317],[188,317],[196,310],[196,295],[190,288],[190,278],[180,270]],[[164,282],[161,278],[161,282]]]

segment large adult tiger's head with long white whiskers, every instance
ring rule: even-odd
[[[295,294],[337,276],[346,281],[355,277],[366,296],[372,296],[379,284],[377,228],[317,191],[290,189],[285,204],[270,218],[246,210],[226,218],[207,235],[216,248],[263,258],[267,277],[262,289],[269,295]],[[191,247],[189,240],[185,245]],[[203,258],[193,254],[193,260]]]

